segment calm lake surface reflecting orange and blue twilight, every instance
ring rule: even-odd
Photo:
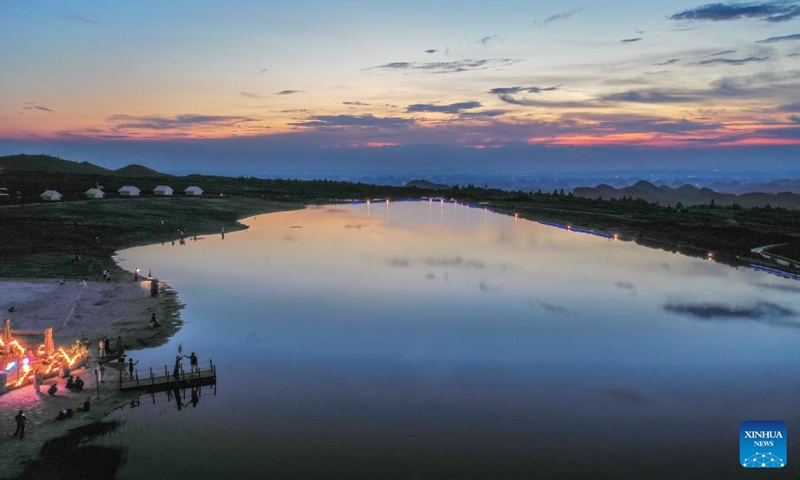
[[[123,479],[744,478],[745,420],[800,472],[800,282],[439,202],[245,223],[119,254],[186,303],[140,366],[219,374],[111,415]]]

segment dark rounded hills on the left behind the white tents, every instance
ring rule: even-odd
[[[151,168],[128,165],[109,170],[89,162],[73,162],[50,155],[6,155],[0,157],[0,171],[66,173],[71,175],[103,175],[115,177],[167,177]]]

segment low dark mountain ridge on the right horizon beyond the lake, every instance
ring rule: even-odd
[[[794,193],[751,192],[742,195],[733,195],[730,193],[715,192],[710,188],[697,188],[689,184],[681,185],[678,188],[671,188],[667,185],[658,187],[645,180],[640,180],[631,186],[619,189],[606,184],[600,184],[594,188],[578,187],[573,190],[572,193],[576,197],[600,197],[604,200],[630,197],[633,199],[642,199],[650,203],[657,202],[664,206],[675,206],[678,202],[685,206],[707,205],[713,200],[715,205],[721,207],[739,204],[742,207],[748,208],[770,205],[772,207],[800,209],[800,195]]]

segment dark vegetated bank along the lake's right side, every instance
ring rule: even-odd
[[[800,242],[800,211],[696,205],[662,206],[625,197],[601,200],[564,195],[460,189],[458,198],[486,202],[496,211],[618,234],[622,239],[672,252],[739,264],[760,261],[750,249]]]

